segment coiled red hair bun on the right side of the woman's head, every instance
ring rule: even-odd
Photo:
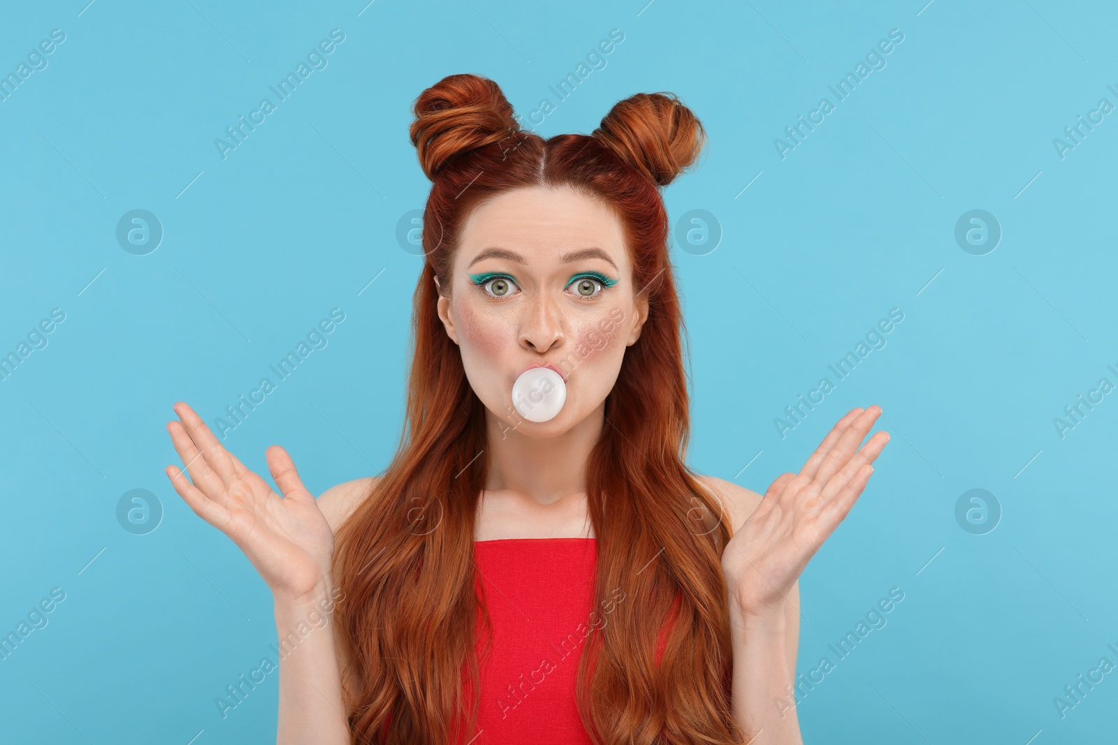
[[[694,163],[707,142],[702,123],[671,93],[618,101],[591,134],[661,187]]]

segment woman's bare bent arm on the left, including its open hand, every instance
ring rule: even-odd
[[[368,494],[369,479],[339,485],[315,499],[287,452],[267,449],[268,469],[283,496],[221,447],[186,403],[167,431],[187,464],[170,466],[174,490],[240,548],[272,591],[280,648],[278,745],[349,745],[343,689],[331,614],[344,599],[331,573],[333,534]],[[363,484],[362,484],[363,483]]]

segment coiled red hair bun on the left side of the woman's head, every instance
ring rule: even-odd
[[[416,98],[408,132],[432,181],[455,155],[517,134],[520,124],[501,87],[480,75],[448,75]]]

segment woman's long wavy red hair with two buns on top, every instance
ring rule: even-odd
[[[609,623],[587,638],[578,709],[606,745],[740,743],[720,563],[730,534],[719,503],[684,464],[684,328],[657,189],[699,156],[701,123],[671,94],[637,94],[590,135],[543,140],[521,130],[500,87],[476,75],[427,88],[415,115],[411,142],[433,185],[406,420],[391,465],[340,527],[334,555],[347,599],[334,620],[356,680],[347,703],[352,742],[445,745],[475,734],[480,609],[489,621],[473,561],[484,407],[438,317],[435,277],[451,287],[456,240],[479,202],[509,189],[570,187],[613,206],[634,286],[648,295],[647,321],[625,352],[587,464],[594,608],[618,588],[626,601],[612,603]]]

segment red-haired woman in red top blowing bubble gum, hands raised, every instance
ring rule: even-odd
[[[391,465],[315,500],[273,446],[281,498],[184,403],[168,424],[176,490],[273,592],[278,743],[799,743],[797,579],[865,487],[881,410],[764,497],[693,474],[657,187],[700,122],[639,94],[544,141],[474,75],[415,114],[433,187]],[[565,384],[547,421],[512,405],[533,366]]]

